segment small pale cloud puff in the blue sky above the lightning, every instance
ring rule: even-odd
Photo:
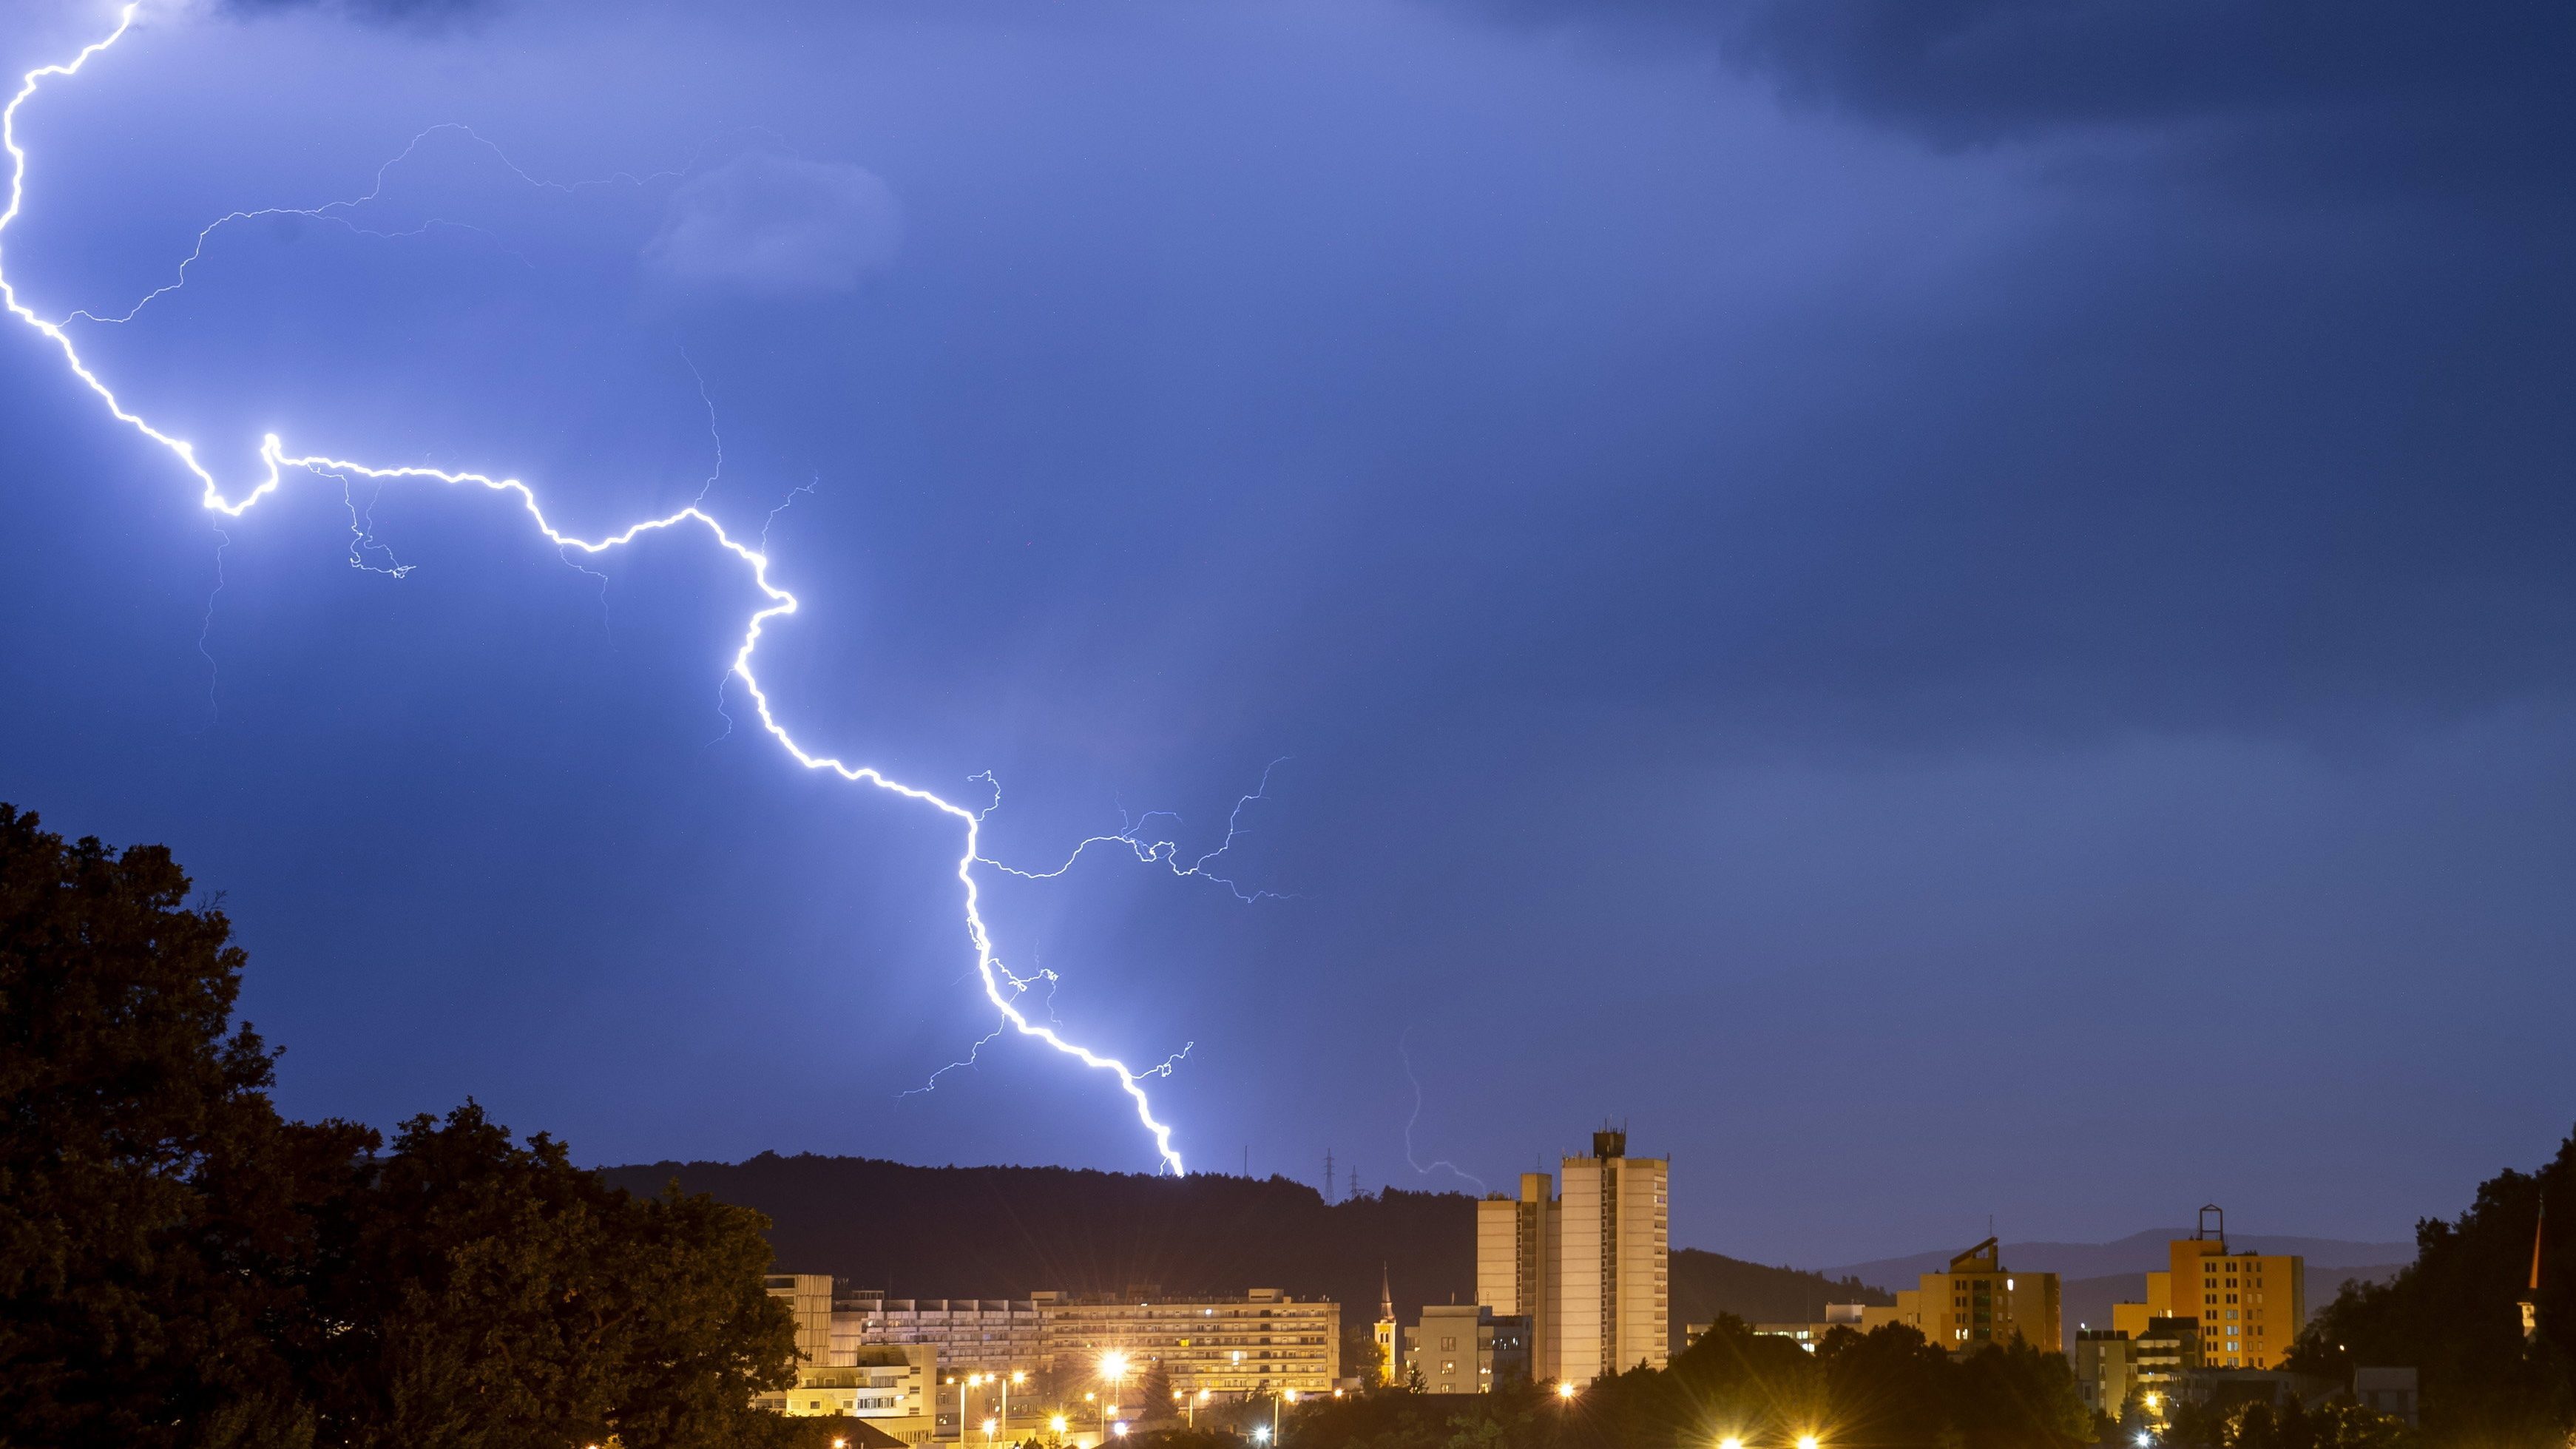
[[[902,209],[848,162],[744,152],[680,183],[644,271],[675,291],[822,297],[894,260]]]

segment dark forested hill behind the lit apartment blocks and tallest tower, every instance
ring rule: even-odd
[[[636,1194],[685,1191],[770,1217],[778,1271],[832,1274],[894,1297],[1028,1297],[1033,1289],[1332,1297],[1345,1323],[1378,1312],[1378,1269],[1412,1323],[1476,1292],[1476,1199],[1386,1189],[1327,1204],[1288,1178],[914,1168],[873,1158],[603,1168]],[[1808,1318],[1824,1302],[1891,1302],[1852,1281],[1718,1253],[1672,1256],[1672,1323],[1718,1312]],[[1680,1343],[1677,1343],[1680,1346]]]

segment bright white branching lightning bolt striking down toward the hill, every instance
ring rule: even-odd
[[[5,144],[8,157],[10,157],[8,209],[0,211],[0,237],[5,237],[8,227],[18,219],[18,211],[26,204],[26,150],[18,144],[18,108],[26,106],[31,95],[36,95],[36,90],[39,90],[39,85],[44,80],[80,75],[80,70],[88,67],[98,54],[103,54],[108,46],[113,46],[116,41],[121,41],[134,28],[134,13],[137,13],[137,3],[129,3],[118,13],[118,18],[116,18],[116,28],[108,31],[106,39],[82,46],[80,54],[75,54],[72,59],[54,62],[54,64],[41,64],[36,70],[28,70],[21,77],[21,83],[18,83],[18,93],[8,101],[8,108],[0,111],[0,144]],[[479,142],[482,137],[474,137],[474,139]],[[489,144],[489,142],[484,142],[484,144]],[[415,147],[417,147],[417,137],[415,137]],[[410,155],[410,150],[404,155]],[[397,157],[397,160],[402,160],[402,157]],[[502,160],[507,162],[507,157],[502,157]],[[386,170],[392,165],[394,162],[386,162]],[[513,170],[518,170],[518,168],[513,168]],[[526,178],[526,173],[520,173],[520,175]],[[533,178],[528,178],[528,180],[533,180]],[[384,186],[384,170],[376,173],[376,186],[381,191],[381,186]],[[374,191],[368,196],[374,196]],[[350,206],[350,204],[335,204],[335,209],[345,209],[345,206]],[[314,209],[314,211],[304,211],[304,214],[335,214],[335,209]],[[222,227],[224,222],[232,222],[232,219],[247,219],[247,217],[252,217],[252,214],[234,214],[234,217],[227,217],[227,219],[216,222],[214,227]],[[335,214],[335,219],[340,219],[340,217]],[[196,260],[198,255],[204,255],[206,235],[214,232],[214,227],[206,227],[206,232],[198,232],[198,250],[191,253],[188,260]],[[180,268],[180,281],[175,281],[175,284],[170,284],[170,286],[165,286],[160,291],[152,291],[149,297],[144,297],[144,304],[149,304],[155,297],[162,297],[165,291],[173,291],[183,281],[185,281],[185,263]],[[665,534],[665,531],[701,531],[701,534],[706,534],[706,539],[714,541],[714,547],[724,549],[726,554],[732,554],[734,559],[739,559],[744,565],[744,570],[750,570],[752,585],[760,590],[760,596],[765,601],[744,621],[744,627],[742,627],[742,642],[734,647],[734,660],[732,660],[732,670],[729,670],[729,678],[742,681],[742,691],[750,696],[752,709],[760,717],[760,727],[773,740],[778,740],[778,748],[783,748],[788,753],[788,758],[793,758],[799,766],[804,766],[809,771],[827,771],[832,776],[840,776],[848,784],[863,784],[863,786],[871,786],[871,789],[881,789],[886,794],[894,794],[894,797],[902,797],[902,799],[909,799],[909,802],[917,802],[917,804],[927,804],[930,810],[938,810],[940,815],[948,815],[951,820],[956,820],[956,825],[958,825],[958,830],[963,835],[963,851],[958,853],[956,879],[958,879],[958,890],[963,892],[966,941],[974,946],[976,980],[984,987],[984,1000],[989,1000],[994,1006],[994,1011],[1002,1013],[1002,1021],[1005,1021],[1005,1026],[1010,1031],[1018,1031],[1020,1036],[1033,1036],[1033,1039],[1054,1047],[1056,1052],[1061,1052],[1061,1055],[1082,1062],[1090,1070],[1113,1075],[1118,1080],[1118,1088],[1136,1106],[1136,1122],[1144,1124],[1144,1129],[1154,1137],[1154,1152],[1162,1158],[1162,1165],[1170,1168],[1175,1176],[1180,1176],[1180,1173],[1188,1171],[1182,1165],[1180,1150],[1172,1147],[1172,1127],[1167,1122],[1162,1122],[1162,1119],[1154,1116],[1154,1101],[1146,1096],[1146,1088],[1144,1088],[1146,1078],[1167,1078],[1172,1073],[1172,1067],[1177,1067],[1180,1060],[1188,1055],[1188,1047],[1182,1047],[1180,1055],[1175,1055],[1175,1057],[1170,1057],[1170,1060],[1164,1060],[1159,1065],[1151,1065],[1151,1067],[1144,1067],[1144,1070],[1133,1070],[1133,1067],[1128,1067],[1126,1062],[1121,1062],[1115,1057],[1105,1057],[1105,1055],[1100,1055],[1100,1052],[1095,1052],[1095,1049],[1090,1049],[1090,1047],[1084,1047],[1079,1042],[1066,1039],[1054,1024],[1030,1021],[1020,1011],[1018,998],[1036,980],[1048,980],[1051,982],[1054,972],[1041,972],[1038,977],[1018,977],[1018,975],[1012,975],[1002,964],[1002,959],[999,959],[999,954],[997,954],[997,949],[992,944],[992,931],[984,923],[984,910],[981,910],[981,895],[984,892],[981,892],[981,884],[976,882],[976,866],[992,866],[992,869],[999,869],[999,871],[1007,871],[1007,874],[1015,874],[1015,877],[1023,877],[1023,879],[1051,879],[1051,877],[1059,877],[1066,869],[1072,869],[1072,864],[1079,861],[1082,851],[1087,851],[1090,846],[1126,843],[1131,851],[1136,851],[1136,859],[1141,859],[1141,861],[1149,861],[1149,864],[1162,861],[1175,874],[1216,879],[1216,882],[1226,884],[1229,890],[1234,890],[1234,895],[1242,897],[1242,900],[1260,900],[1262,895],[1270,895],[1270,892],[1244,892],[1231,879],[1216,877],[1213,871],[1206,869],[1216,859],[1221,859],[1224,851],[1234,843],[1234,838],[1239,833],[1242,810],[1252,799],[1260,799],[1260,792],[1255,792],[1255,794],[1249,794],[1249,797],[1244,797],[1244,799],[1236,802],[1234,817],[1229,820],[1229,828],[1226,828],[1226,841],[1216,851],[1211,851],[1211,853],[1200,856],[1198,861],[1193,861],[1190,866],[1180,864],[1177,846],[1172,846],[1167,841],[1151,841],[1151,843],[1141,841],[1136,835],[1136,828],[1141,825],[1141,820],[1136,820],[1136,822],[1126,822],[1126,830],[1118,833],[1118,835],[1095,835],[1095,838],[1084,841],[1082,846],[1074,848],[1074,853],[1064,861],[1064,866],[1056,866],[1054,871],[1012,871],[1010,866],[1002,866],[999,861],[992,861],[989,856],[984,856],[981,828],[984,828],[984,815],[992,810],[989,804],[984,810],[969,810],[963,804],[953,804],[953,802],[948,802],[948,799],[943,799],[943,797],[938,797],[938,794],[933,794],[927,789],[920,789],[914,784],[904,784],[899,779],[889,779],[889,776],[878,773],[873,766],[853,766],[853,763],[840,761],[835,755],[806,750],[804,745],[796,743],[796,737],[788,732],[788,727],[781,724],[778,714],[770,709],[768,691],[760,686],[760,676],[752,670],[752,657],[760,650],[760,637],[768,629],[768,624],[773,619],[783,619],[788,614],[796,614],[799,611],[799,601],[796,601],[793,593],[788,593],[786,588],[781,588],[778,583],[770,580],[768,521],[762,521],[760,547],[752,547],[752,544],[744,544],[744,541],[734,539],[724,529],[724,523],[719,523],[711,513],[706,513],[703,508],[698,508],[698,503],[690,503],[688,508],[680,508],[677,513],[665,513],[659,518],[644,518],[639,523],[629,523],[626,529],[621,529],[616,534],[608,534],[608,536],[600,536],[600,539],[582,539],[582,536],[564,534],[562,529],[556,529],[546,518],[546,511],[538,503],[536,490],[531,490],[526,482],[520,482],[515,477],[489,477],[489,474],[482,474],[482,472],[448,472],[448,469],[433,469],[433,467],[376,467],[376,464],[363,464],[363,462],[355,462],[355,459],[335,459],[335,456],[325,456],[325,454],[301,454],[301,451],[289,451],[286,443],[276,433],[268,433],[260,441],[260,469],[263,472],[260,472],[258,482],[252,482],[245,492],[240,492],[234,498],[234,495],[227,495],[224,485],[214,477],[214,472],[209,472],[206,464],[198,462],[196,443],[191,443],[188,438],[178,438],[173,433],[165,433],[165,431],[155,428],[139,413],[129,410],[116,397],[116,392],[80,358],[80,348],[72,343],[70,333],[64,330],[64,325],[72,317],[64,317],[62,322],[52,322],[46,317],[39,317],[33,309],[26,307],[26,302],[18,299],[18,289],[8,278],[8,271],[5,271],[5,250],[0,250],[0,304],[5,304],[13,317],[18,317],[21,322],[26,322],[28,327],[33,327],[36,333],[41,333],[46,340],[52,340],[54,348],[62,351],[62,361],[70,369],[70,374],[75,379],[80,379],[80,384],[88,387],[98,397],[98,402],[106,405],[106,410],[118,423],[124,423],[126,428],[131,428],[134,433],[139,433],[149,443],[155,443],[162,451],[167,451],[173,459],[178,459],[178,464],[183,469],[188,469],[191,477],[196,477],[196,482],[198,482],[198,503],[206,511],[222,513],[224,518],[240,518],[240,516],[250,513],[250,508],[255,508],[263,498],[268,498],[270,492],[278,492],[286,485],[286,474],[289,472],[301,472],[301,474],[312,474],[312,477],[337,480],[340,487],[343,487],[343,498],[350,505],[350,534],[353,534],[350,562],[358,562],[358,567],[371,567],[368,562],[363,562],[366,552],[371,547],[381,549],[381,544],[374,541],[374,526],[371,526],[371,521],[361,516],[361,511],[355,505],[355,498],[348,492],[353,487],[350,480],[368,480],[379,490],[386,482],[435,482],[435,485],[446,485],[446,487],[464,487],[464,490],[484,490],[484,492],[510,495],[528,513],[528,521],[536,526],[536,531],[544,534],[546,541],[554,544],[559,552],[564,552],[567,562],[574,554],[598,557],[598,554],[621,549],[621,547],[626,547],[626,544],[631,544],[631,541],[636,541],[641,536],[649,536],[649,534]],[[126,317],[134,317],[134,312],[139,312],[139,309],[142,309],[142,304],[137,304],[134,309],[129,309],[124,317],[93,317],[93,320],[126,320]],[[77,315],[77,317],[88,317],[88,315]],[[701,382],[701,397],[703,397],[703,382]],[[708,400],[708,410],[714,413],[714,402],[711,400]],[[719,469],[721,469],[721,462],[719,462]],[[708,487],[714,487],[714,482],[716,480],[708,477]],[[703,500],[703,498],[706,498],[706,492],[701,490],[698,500]],[[775,511],[770,513],[770,518],[775,518]],[[392,559],[392,552],[384,552],[384,557]],[[374,572],[389,572],[389,575],[399,578],[402,572],[407,572],[407,565],[389,562],[384,567],[374,567]],[[989,776],[984,776],[984,779],[989,779]],[[1262,784],[1265,786],[1267,786],[1267,779],[1270,779],[1267,771],[1262,771]],[[994,804],[999,804],[999,786],[994,786]],[[1005,987],[1005,982],[1007,982],[1007,987]],[[992,1036],[987,1036],[987,1042],[989,1039]],[[981,1042],[976,1047],[981,1049]]]

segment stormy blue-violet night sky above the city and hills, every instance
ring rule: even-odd
[[[1618,1116],[1765,1261],[2403,1238],[2576,1119],[2568,75],[2566,5],[155,3],[5,268],[124,312],[404,157],[85,353],[227,480],[788,503],[783,719],[994,771],[1010,864],[1280,761],[1280,900],[987,871],[1193,1168]],[[15,322],[0,505],[0,799],[222,892],[289,1111],[1154,1168],[1030,1042],[902,1096],[994,1026],[956,822],[757,735],[703,539],[219,539]]]

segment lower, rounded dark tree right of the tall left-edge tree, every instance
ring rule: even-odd
[[[466,1104],[404,1122],[337,1204],[317,1305],[350,1325],[317,1374],[350,1446],[719,1446],[773,1415],[793,1328],[762,1292],[752,1212],[634,1199]]]

